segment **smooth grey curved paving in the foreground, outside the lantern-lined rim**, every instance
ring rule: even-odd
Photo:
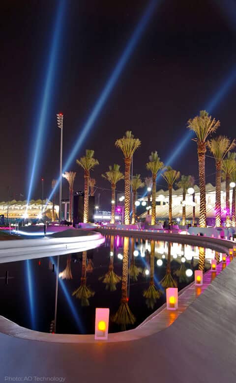
[[[0,382],[29,376],[35,382],[235,383],[235,318],[236,259],[171,326],[142,339],[68,344],[0,334]]]

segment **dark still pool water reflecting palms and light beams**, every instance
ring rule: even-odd
[[[205,268],[208,269],[210,259],[215,257],[213,250],[120,236],[106,237],[104,245],[93,250],[61,255],[59,273],[63,273],[59,274],[57,332],[94,333],[95,308],[109,307],[111,318],[120,305],[121,286],[123,301],[126,294],[126,303],[136,318],[135,323],[127,325],[126,329],[136,327],[165,302],[165,288],[160,282],[164,283],[168,271],[179,290],[193,281],[190,274],[198,269],[199,253],[205,254]],[[49,332],[55,315],[57,259],[49,257],[0,264],[0,315],[20,326]],[[136,281],[127,274],[130,266],[138,273]],[[70,270],[72,279],[62,279],[71,276]],[[103,283],[110,275],[106,275],[109,270],[120,278],[123,276],[123,283],[121,280]],[[190,276],[186,276],[186,270]],[[8,284],[5,282],[7,271]],[[160,293],[160,298],[155,300],[143,295],[151,284],[152,274],[155,290]],[[72,296],[80,286],[83,288],[78,292],[79,298]],[[110,320],[109,332],[119,331],[121,327]]]

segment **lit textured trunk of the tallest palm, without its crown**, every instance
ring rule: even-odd
[[[205,178],[205,157],[206,143],[198,144],[198,170],[199,170],[199,187],[200,187],[200,227],[207,226],[207,211],[206,211],[206,178]]]

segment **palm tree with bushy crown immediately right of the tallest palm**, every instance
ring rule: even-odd
[[[221,168],[222,162],[227,153],[235,147],[235,140],[230,142],[230,139],[225,136],[219,136],[207,141],[213,157],[215,159],[215,226],[221,226]],[[229,198],[228,198],[229,199]],[[229,203],[229,201],[228,201]],[[228,212],[229,215],[229,212]]]

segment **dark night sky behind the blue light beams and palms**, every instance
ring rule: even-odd
[[[122,153],[114,142],[126,130],[142,146],[134,156],[134,173],[148,175],[146,163],[157,150],[167,161],[187,134],[186,122],[205,109],[214,94],[236,69],[236,1],[157,1],[148,27],[125,66],[91,133],[77,153],[93,149],[100,165],[92,176],[97,186],[109,189],[101,178],[110,164],[124,169]],[[55,14],[54,0],[1,1],[0,200],[19,193],[27,198],[32,145],[38,108],[47,70]],[[64,113],[66,160],[76,137],[140,20],[147,0],[66,0],[64,26],[45,126],[43,150],[32,193],[41,197],[59,174],[59,129],[56,113]],[[236,20],[236,17],[235,17]],[[218,134],[234,138],[236,82],[212,111],[221,121]],[[189,140],[172,166],[198,178],[196,143]],[[83,171],[75,160],[67,169],[77,171],[75,190],[83,189]],[[207,158],[207,182],[214,183],[214,163]],[[157,188],[165,186],[158,181]],[[63,180],[63,197],[67,182]],[[122,181],[118,190],[123,190]],[[109,208],[110,192],[99,189],[101,207]]]

